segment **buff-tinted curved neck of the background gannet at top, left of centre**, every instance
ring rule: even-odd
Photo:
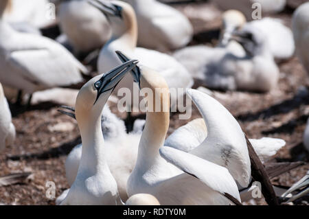
[[[124,25],[114,23],[111,19],[111,27],[113,30],[113,36],[111,41],[121,41],[129,45],[133,49],[137,45],[137,17],[131,5],[122,1],[115,1],[117,5],[121,5],[122,10],[122,22]],[[119,27],[121,28],[119,30]]]

